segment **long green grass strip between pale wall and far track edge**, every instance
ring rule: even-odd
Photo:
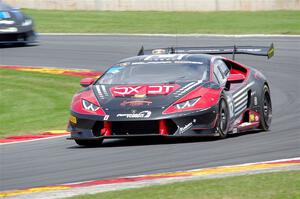
[[[24,11],[35,19],[38,32],[300,34],[300,11]]]

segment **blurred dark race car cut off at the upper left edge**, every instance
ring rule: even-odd
[[[36,42],[33,20],[0,0],[0,44]]]

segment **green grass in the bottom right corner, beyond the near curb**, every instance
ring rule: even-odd
[[[72,199],[299,199],[299,187],[300,171],[289,171],[187,181]]]

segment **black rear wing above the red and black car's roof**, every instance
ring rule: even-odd
[[[266,46],[222,46],[222,47],[169,47],[169,48],[157,48],[157,49],[147,49],[144,47],[140,49],[138,55],[158,55],[158,54],[232,54],[233,59],[236,54],[246,54],[246,55],[257,55],[266,56],[268,59],[274,55],[274,45],[273,43]]]

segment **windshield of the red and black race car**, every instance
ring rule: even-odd
[[[155,84],[209,79],[209,63],[191,61],[126,62],[112,66],[97,84]]]

